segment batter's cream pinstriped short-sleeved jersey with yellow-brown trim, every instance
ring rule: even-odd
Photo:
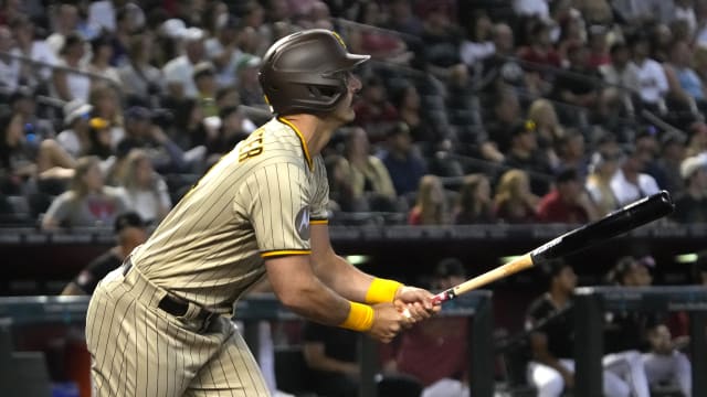
[[[272,119],[225,154],[133,251],[134,266],[177,297],[220,313],[265,273],[263,258],[310,254],[326,223],[321,155]]]

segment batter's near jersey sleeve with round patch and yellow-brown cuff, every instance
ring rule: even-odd
[[[306,170],[294,163],[260,168],[246,180],[242,192],[262,257],[312,253]]]

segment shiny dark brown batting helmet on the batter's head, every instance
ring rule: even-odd
[[[258,79],[273,112],[324,114],[348,89],[348,71],[370,55],[350,54],[341,37],[326,29],[289,34],[265,53]]]

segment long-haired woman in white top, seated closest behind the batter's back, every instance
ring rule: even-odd
[[[130,151],[125,167],[122,187],[128,207],[145,222],[158,224],[172,207],[165,179],[155,172],[149,157],[140,149]]]

